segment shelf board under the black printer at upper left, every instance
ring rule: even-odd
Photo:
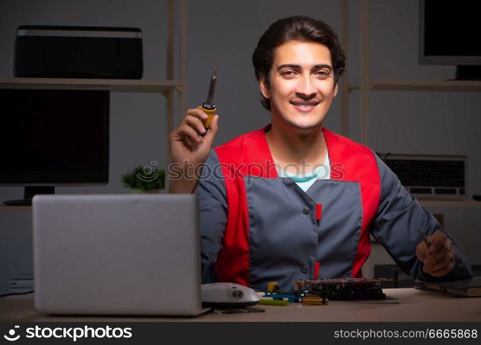
[[[1,88],[68,88],[110,90],[114,92],[165,92],[181,90],[180,80],[161,79],[73,79],[73,78],[0,78]]]

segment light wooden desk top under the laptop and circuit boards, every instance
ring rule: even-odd
[[[14,322],[481,322],[481,297],[460,298],[413,288],[386,288],[388,302],[338,302],[327,306],[260,306],[265,313],[198,317],[56,316],[37,313],[33,299],[1,299],[0,321]]]

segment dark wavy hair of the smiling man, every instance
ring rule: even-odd
[[[287,41],[316,42],[327,46],[329,52],[331,52],[334,86],[337,85],[339,77],[345,69],[346,55],[340,46],[336,32],[324,21],[300,16],[279,19],[272,23],[260,37],[256,50],[254,50],[252,55],[257,81],[260,81],[260,76],[263,76],[266,86],[269,88],[269,71],[274,60],[274,50]],[[271,110],[269,99],[262,94],[261,96],[264,108]]]

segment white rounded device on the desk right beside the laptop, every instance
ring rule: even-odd
[[[203,306],[254,306],[260,296],[253,288],[235,283],[202,284]]]

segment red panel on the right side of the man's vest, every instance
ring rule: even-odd
[[[369,226],[380,201],[380,176],[373,152],[366,146],[323,128],[331,161],[331,179],[358,181],[362,201],[362,224],[352,277],[362,277],[361,267],[371,253]]]

